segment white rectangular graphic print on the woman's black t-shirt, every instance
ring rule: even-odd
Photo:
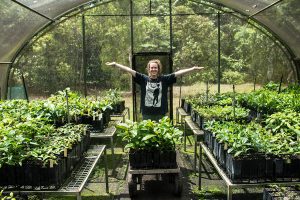
[[[145,106],[161,107],[161,82],[149,82],[146,85]]]

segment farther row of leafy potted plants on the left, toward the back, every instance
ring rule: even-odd
[[[32,117],[60,126],[67,122],[92,123],[103,118],[106,124],[113,108],[116,112],[122,112],[124,107],[124,101],[116,90],[107,91],[100,99],[96,99],[82,98],[79,93],[67,88],[45,100],[33,100],[29,103],[24,100],[0,101],[0,120],[11,117],[18,122]]]

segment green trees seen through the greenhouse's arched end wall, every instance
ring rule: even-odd
[[[169,52],[169,1],[137,0],[133,5],[133,52]],[[128,0],[112,1],[85,13],[89,93],[108,88],[130,90],[131,77],[105,62],[130,66],[131,24]],[[172,5],[173,70],[204,66],[185,76],[184,84],[217,82],[217,10],[192,1]],[[83,90],[82,16],[53,27],[17,59],[10,84],[20,71],[30,94],[49,95],[70,87]],[[291,63],[268,36],[230,14],[221,13],[221,81],[224,84],[284,82],[293,79]]]

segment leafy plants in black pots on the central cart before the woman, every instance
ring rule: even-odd
[[[182,131],[168,117],[159,122],[127,121],[117,126],[118,135],[127,143],[132,168],[176,168],[176,144]]]

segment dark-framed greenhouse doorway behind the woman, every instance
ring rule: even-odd
[[[132,56],[132,69],[137,72],[148,74],[146,70],[147,63],[149,60],[159,59],[162,63],[162,74],[172,73],[173,61],[171,53],[169,52],[140,52],[134,53]],[[132,103],[133,103],[133,120],[141,121],[142,114],[140,109],[140,95],[141,90],[139,85],[132,82]],[[170,87],[168,90],[168,110],[167,116],[173,119],[173,88]]]

